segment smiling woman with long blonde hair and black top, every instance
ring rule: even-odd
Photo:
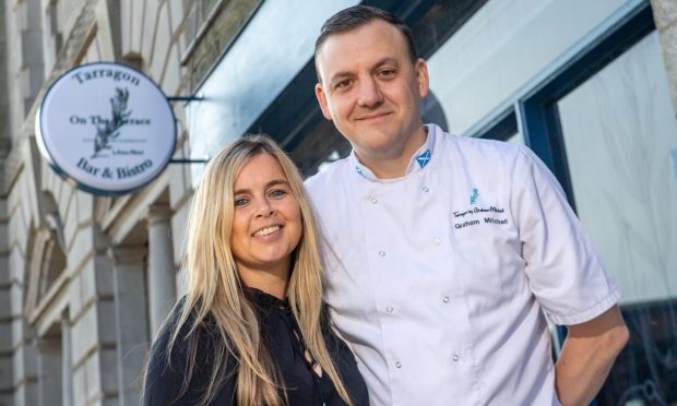
[[[188,294],[158,334],[144,405],[366,405],[329,326],[312,211],[268,136],[211,159],[188,218]]]

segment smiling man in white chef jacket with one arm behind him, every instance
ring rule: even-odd
[[[307,181],[326,300],[375,405],[584,405],[628,339],[620,296],[526,147],[421,123],[409,29],[354,7],[316,43],[353,153]],[[568,326],[557,366],[543,315]]]

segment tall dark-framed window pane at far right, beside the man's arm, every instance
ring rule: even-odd
[[[677,123],[654,32],[558,103],[578,214],[631,339],[602,404],[677,402]]]

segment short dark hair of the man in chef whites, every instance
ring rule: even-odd
[[[347,9],[341,10],[336,14],[332,15],[324,22],[320,29],[320,35],[314,43],[314,56],[316,56],[316,71],[318,73],[318,81],[321,81],[320,71],[318,70],[318,50],[324,44],[326,38],[334,34],[347,33],[353,29],[357,29],[363,25],[366,25],[375,20],[382,20],[390,25],[400,29],[404,38],[406,39],[407,50],[412,62],[416,62],[418,59],[418,52],[416,51],[416,45],[414,44],[414,36],[412,29],[409,29],[402,20],[392,15],[385,10],[377,9],[370,5],[353,5]]]

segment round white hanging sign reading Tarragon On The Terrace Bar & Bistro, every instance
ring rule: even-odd
[[[176,144],[176,120],[159,87],[129,67],[95,62],[49,87],[35,123],[43,155],[87,192],[117,195],[155,179]]]

